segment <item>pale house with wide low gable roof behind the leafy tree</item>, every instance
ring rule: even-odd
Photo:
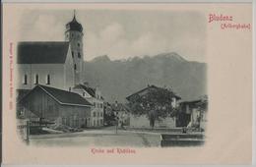
[[[180,100],[181,98],[178,95],[176,95],[173,91],[171,91],[170,89],[162,88],[162,87],[159,87],[156,85],[148,85],[147,87],[129,95],[128,97],[126,97],[126,99],[130,103],[132,103],[133,101],[136,101],[136,99],[138,97],[143,97],[155,90],[156,91],[159,91],[159,90],[168,91],[168,93],[171,94],[170,98],[171,98],[172,108],[178,107],[178,100]],[[173,128],[176,125],[175,122],[176,122],[175,117],[170,117],[170,115],[168,115],[164,119],[156,120],[155,127]],[[150,128],[150,121],[149,121],[148,116],[146,114],[135,115],[135,114],[131,113],[130,114],[130,127],[131,128]]]

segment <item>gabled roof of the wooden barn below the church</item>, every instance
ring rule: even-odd
[[[62,105],[79,105],[79,106],[91,106],[92,104],[88,102],[85,98],[80,96],[77,93],[71,92],[71,91],[65,91],[62,89],[49,87],[45,85],[38,84],[33,89],[40,88],[44,92],[46,92],[48,95],[50,95],[55,101]],[[33,90],[32,89],[32,90]],[[31,92],[32,92],[31,90]],[[30,92],[30,93],[31,93]],[[28,93],[26,96],[28,96],[30,93]],[[23,98],[26,98],[24,96]]]

